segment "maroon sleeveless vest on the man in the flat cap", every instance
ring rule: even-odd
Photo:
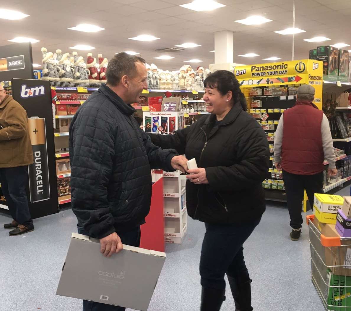
[[[283,170],[314,175],[324,170],[322,145],[323,111],[312,102],[300,101],[283,114]]]

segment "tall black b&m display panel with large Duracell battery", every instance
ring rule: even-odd
[[[57,175],[50,82],[12,79],[12,96],[26,110],[33,149],[27,195],[32,218],[58,213]]]

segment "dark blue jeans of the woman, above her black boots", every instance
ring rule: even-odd
[[[243,244],[260,220],[230,225],[205,223],[206,233],[200,258],[202,286],[225,289],[226,273],[236,279],[238,284],[250,280],[244,261]]]

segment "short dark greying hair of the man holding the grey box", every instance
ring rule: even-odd
[[[137,73],[135,63],[145,64],[145,59],[127,53],[118,53],[108,62],[106,70],[107,84],[116,86],[123,76],[133,78]]]

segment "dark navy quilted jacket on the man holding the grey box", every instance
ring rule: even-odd
[[[69,128],[72,209],[95,238],[145,223],[151,169],[174,171],[175,150],[156,147],[105,84],[78,109]]]

